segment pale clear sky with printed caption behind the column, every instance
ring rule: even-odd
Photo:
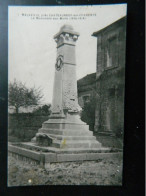
[[[8,78],[40,87],[42,103],[52,103],[57,48],[53,36],[64,24],[76,42],[77,79],[96,72],[96,32],[126,15],[126,4],[96,6],[9,6]]]

